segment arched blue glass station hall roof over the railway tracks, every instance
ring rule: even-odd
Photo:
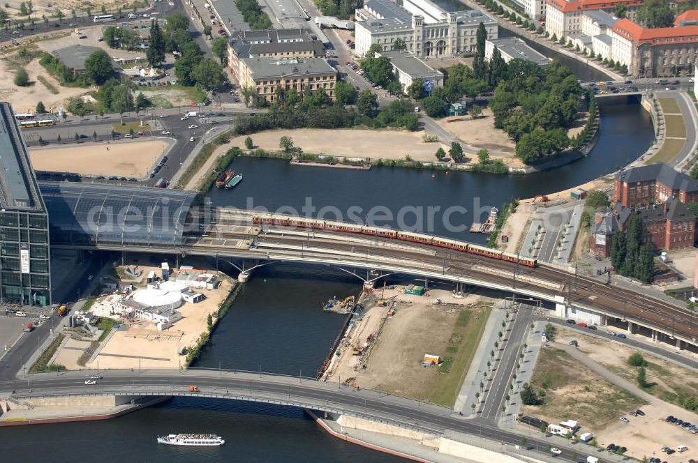
[[[118,249],[181,245],[195,192],[106,185],[39,182],[49,216],[51,243]]]

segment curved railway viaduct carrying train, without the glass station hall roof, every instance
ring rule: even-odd
[[[614,282],[586,278],[567,266],[540,264],[530,268],[512,261],[385,236],[260,226],[253,224],[253,214],[223,208],[207,214],[188,211],[186,220],[175,225],[181,239],[168,245],[96,240],[68,247],[216,257],[237,266],[241,281],[258,266],[272,262],[334,266],[357,276],[356,269],[365,269],[366,276],[359,278],[367,282],[380,278],[380,275],[372,277],[371,271],[416,275],[548,301],[555,305],[560,317],[578,310],[600,314],[602,324],[627,323],[632,333],[641,331],[653,340],[671,342],[679,348],[686,345],[696,348],[698,317],[685,307],[642,292],[641,287],[634,290]],[[52,246],[56,248],[60,244],[52,243]],[[237,263],[239,260],[242,263]]]

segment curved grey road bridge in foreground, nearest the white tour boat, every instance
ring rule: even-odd
[[[501,430],[491,421],[466,419],[446,407],[387,395],[380,390],[356,390],[350,386],[317,381],[306,377],[290,377],[266,372],[235,370],[107,370],[96,386],[86,386],[85,379],[96,371],[37,374],[21,381],[6,381],[0,390],[12,390],[10,401],[38,404],[42,400],[94,396],[183,396],[222,400],[262,402],[285,407],[301,407],[337,415],[356,416],[387,423],[408,430],[431,434],[433,439],[453,433],[466,433],[484,439],[518,445],[523,434]],[[189,390],[198,386],[198,392]],[[30,392],[31,389],[31,392]],[[545,451],[549,442],[527,436],[527,445]],[[556,446],[565,448],[556,441]],[[576,448],[577,457],[584,450]],[[591,448],[589,448],[591,450]],[[567,455],[571,452],[567,451]],[[593,455],[593,453],[590,453]],[[571,460],[562,455],[562,460]]]

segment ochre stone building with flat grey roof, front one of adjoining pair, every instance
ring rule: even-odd
[[[272,103],[279,86],[285,91],[295,89],[299,93],[322,88],[334,99],[337,72],[320,58],[244,58],[240,60],[239,82],[240,86],[255,88],[262,98]]]

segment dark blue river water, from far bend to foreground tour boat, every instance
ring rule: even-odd
[[[212,191],[210,199],[216,206],[252,205],[270,210],[285,206],[297,211],[306,204],[306,198],[317,208],[334,206],[340,212],[350,206],[369,211],[383,205],[389,211],[399,211],[404,207],[461,205],[468,213],[456,215],[459,225],[467,226],[477,215],[473,211],[487,213],[489,206],[499,206],[511,197],[546,194],[591,180],[637,157],[651,142],[651,121],[639,105],[602,104],[601,114],[601,136],[591,154],[550,172],[446,175],[389,167],[365,172],[238,158],[232,168],[244,173],[245,180],[233,191]],[[392,225],[397,222],[396,218],[387,221]],[[433,232],[475,241],[484,238],[453,231],[439,220]],[[322,312],[322,303],[359,290],[359,280],[324,268],[260,268],[244,285],[195,366],[253,371],[261,367],[269,372],[313,376],[342,323],[341,316]],[[215,432],[227,443],[207,449],[156,444],[158,434],[169,432]],[[202,399],[174,399],[98,423],[5,427],[0,428],[0,439],[1,460],[8,462],[398,460],[330,437],[297,409]]]

